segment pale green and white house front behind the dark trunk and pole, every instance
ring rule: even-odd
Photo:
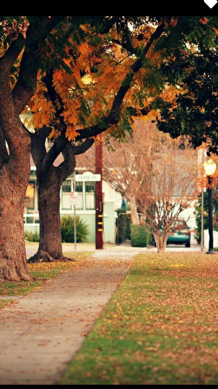
[[[38,191],[36,183],[36,168],[31,161],[31,175],[26,190],[25,208],[24,208],[24,231],[39,233],[39,214],[38,214]],[[81,170],[80,170],[81,173]],[[84,175],[90,172],[84,172]],[[95,242],[95,182],[78,181],[74,189],[73,175],[70,175],[62,184],[60,192],[60,214],[74,215],[73,205],[71,204],[70,193],[78,192],[78,203],[76,206],[76,215],[80,217],[89,227],[90,233],[87,237],[88,242]],[[116,192],[106,181],[102,182],[103,196],[103,223],[104,223],[104,242],[115,242],[115,224],[116,209],[121,207],[122,196]]]

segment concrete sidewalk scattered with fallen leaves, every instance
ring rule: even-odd
[[[0,384],[57,384],[125,277],[133,254],[96,252],[87,267],[59,274],[3,307]]]

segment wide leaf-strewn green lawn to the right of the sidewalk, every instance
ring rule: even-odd
[[[61,384],[216,384],[217,292],[218,254],[139,254]]]

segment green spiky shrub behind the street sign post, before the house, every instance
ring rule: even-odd
[[[89,228],[85,222],[76,216],[76,242],[87,242]],[[74,217],[71,215],[62,216],[61,218],[61,237],[62,242],[74,242]]]

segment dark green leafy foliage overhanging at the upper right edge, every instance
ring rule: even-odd
[[[188,135],[194,148],[204,145],[208,155],[218,154],[218,29],[217,18],[199,20],[199,30],[211,23],[207,38],[195,37],[192,45],[163,64],[165,79],[177,86],[175,100],[156,100],[158,128],[173,138]]]

